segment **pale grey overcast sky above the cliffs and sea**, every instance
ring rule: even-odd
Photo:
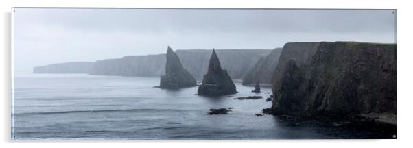
[[[393,10],[16,8],[14,71],[165,53],[274,49],[286,42],[396,42]]]

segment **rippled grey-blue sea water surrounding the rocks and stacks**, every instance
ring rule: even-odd
[[[159,77],[86,74],[16,75],[12,90],[13,140],[142,139],[290,139],[391,138],[370,126],[335,126],[323,121],[297,122],[272,115],[270,88],[222,97],[196,95],[198,87],[154,88]],[[261,95],[263,99],[235,97]],[[208,115],[211,108],[233,108]]]

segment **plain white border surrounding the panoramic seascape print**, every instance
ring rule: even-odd
[[[106,7],[106,8],[386,8],[397,9],[397,140],[151,140],[151,141],[103,141],[85,143],[79,142],[10,142],[10,8],[19,7]],[[412,82],[413,49],[410,44],[412,29],[412,9],[409,1],[246,1],[246,0],[3,0],[1,1],[1,147],[397,147],[412,145],[412,105],[410,90]],[[113,143],[116,142],[116,143]],[[219,143],[216,143],[219,142]]]

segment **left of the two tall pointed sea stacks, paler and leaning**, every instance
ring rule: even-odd
[[[165,74],[161,76],[160,88],[185,88],[196,86],[196,79],[183,68],[178,55],[168,46],[166,53]]]

